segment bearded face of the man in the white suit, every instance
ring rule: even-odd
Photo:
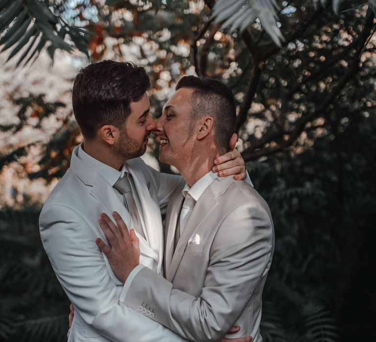
[[[145,153],[150,132],[156,127],[149,110],[150,102],[146,93],[139,101],[131,103],[131,113],[120,129],[119,140],[114,146],[116,155],[127,160]]]

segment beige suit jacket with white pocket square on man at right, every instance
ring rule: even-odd
[[[261,294],[274,250],[268,205],[244,181],[215,179],[195,204],[173,253],[182,201],[178,189],[167,209],[166,279],[141,268],[125,282],[129,289],[120,300],[140,312],[152,310],[152,320],[188,340],[217,341],[240,325],[228,337],[262,341]]]

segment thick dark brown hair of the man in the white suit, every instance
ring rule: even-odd
[[[121,128],[131,103],[141,99],[150,86],[143,67],[129,62],[102,61],[80,70],[73,84],[74,117],[87,139],[104,125]]]

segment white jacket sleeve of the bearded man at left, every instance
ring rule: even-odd
[[[74,209],[43,208],[40,233],[53,270],[80,318],[114,342],[186,341],[119,302],[96,233]]]

